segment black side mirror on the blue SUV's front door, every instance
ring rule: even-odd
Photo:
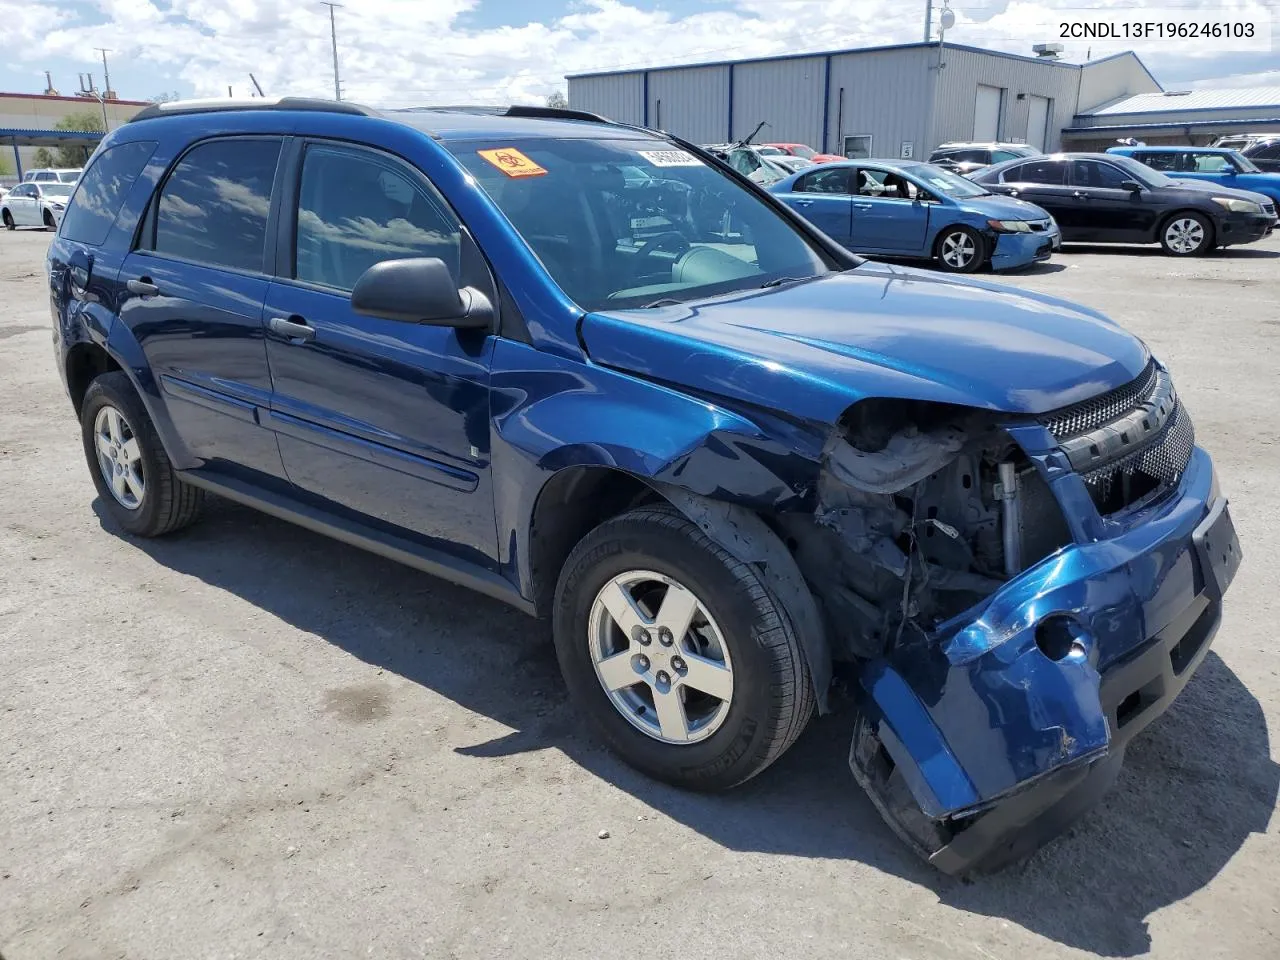
[[[480,291],[458,289],[438,257],[384,260],[365,270],[351,292],[351,308],[365,316],[431,326],[480,328],[493,323],[493,305]]]

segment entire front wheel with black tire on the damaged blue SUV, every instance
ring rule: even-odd
[[[636,581],[623,585],[631,577]],[[627,590],[640,609],[632,623],[639,637],[628,639],[603,608],[602,596],[623,595],[616,589]],[[660,628],[668,596],[696,604],[691,628],[680,636]],[[640,507],[605,521],[573,548],[556,589],[553,627],[570,695],[618,756],[655,780],[727,790],[778,759],[813,714],[813,681],[783,605],[754,567],[671,507]],[[607,657],[622,668],[609,673],[614,682],[634,676],[632,686],[605,689],[607,671],[598,672],[596,660]]]

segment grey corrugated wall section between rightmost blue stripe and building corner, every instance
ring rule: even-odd
[[[844,152],[844,137],[870,134],[872,155],[896,157],[902,143],[913,145],[916,160],[928,157],[929,83],[932,51],[884,50],[831,58],[831,106],[827,151]],[[844,96],[841,96],[844,91]],[[822,150],[820,134],[810,145]]]

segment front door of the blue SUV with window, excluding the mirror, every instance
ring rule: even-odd
[[[280,227],[293,261],[278,264],[266,294],[271,422],[288,477],[365,520],[493,566],[493,337],[361,316],[349,297],[370,266],[404,257],[439,257],[462,285],[471,241],[397,157],[316,141],[301,146],[298,163]]]

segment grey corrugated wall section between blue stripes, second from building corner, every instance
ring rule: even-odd
[[[822,81],[826,58],[740,63],[733,67],[733,137],[760,120],[758,141],[809,143],[822,140]]]

